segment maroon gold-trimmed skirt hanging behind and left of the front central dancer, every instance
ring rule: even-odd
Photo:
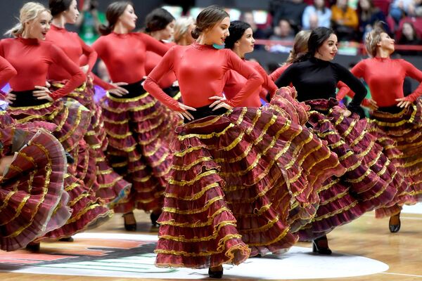
[[[131,192],[115,206],[115,211],[158,210],[170,171],[169,142],[176,122],[166,107],[143,90],[141,82],[126,87],[127,96],[107,93],[101,100],[108,162],[132,183]]]

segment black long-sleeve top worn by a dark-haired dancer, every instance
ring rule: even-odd
[[[349,70],[326,60],[310,58],[301,63],[293,63],[277,79],[280,88],[293,84],[298,91],[298,100],[316,100],[335,98],[335,87],[343,81],[354,91],[355,96],[348,108],[352,111],[359,107],[366,96],[366,88]]]

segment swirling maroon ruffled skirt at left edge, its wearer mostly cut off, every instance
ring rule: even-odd
[[[1,157],[14,156],[0,179],[0,249],[13,251],[63,226],[71,211],[63,190],[65,152],[42,129],[49,124],[11,126],[4,122],[7,114],[1,115]]]

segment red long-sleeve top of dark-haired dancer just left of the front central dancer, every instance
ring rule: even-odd
[[[166,46],[144,33],[117,34],[112,32],[98,38],[92,44],[92,48],[106,63],[113,82],[132,84],[141,81],[146,76],[146,51],[165,55],[170,46]]]

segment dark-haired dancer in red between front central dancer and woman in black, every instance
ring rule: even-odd
[[[269,91],[271,97],[274,96],[274,93],[277,90],[277,86],[274,84],[274,81],[269,79],[267,72],[265,72],[259,63],[245,60],[245,54],[251,53],[255,44],[255,39],[252,37],[252,28],[250,28],[250,25],[246,22],[235,20],[230,22],[229,32],[230,35],[226,38],[225,47],[231,49],[231,51],[234,51],[234,53],[236,53],[239,58],[244,60],[245,63],[250,65],[250,67],[254,68],[264,80],[262,86],[260,86],[257,91],[255,91],[255,93],[250,95],[247,99],[242,100],[239,106],[260,107],[260,98],[266,98],[267,91]],[[228,99],[236,96],[246,81],[245,77],[233,70],[226,72],[224,79],[224,95]],[[260,96],[261,93],[262,95]]]

